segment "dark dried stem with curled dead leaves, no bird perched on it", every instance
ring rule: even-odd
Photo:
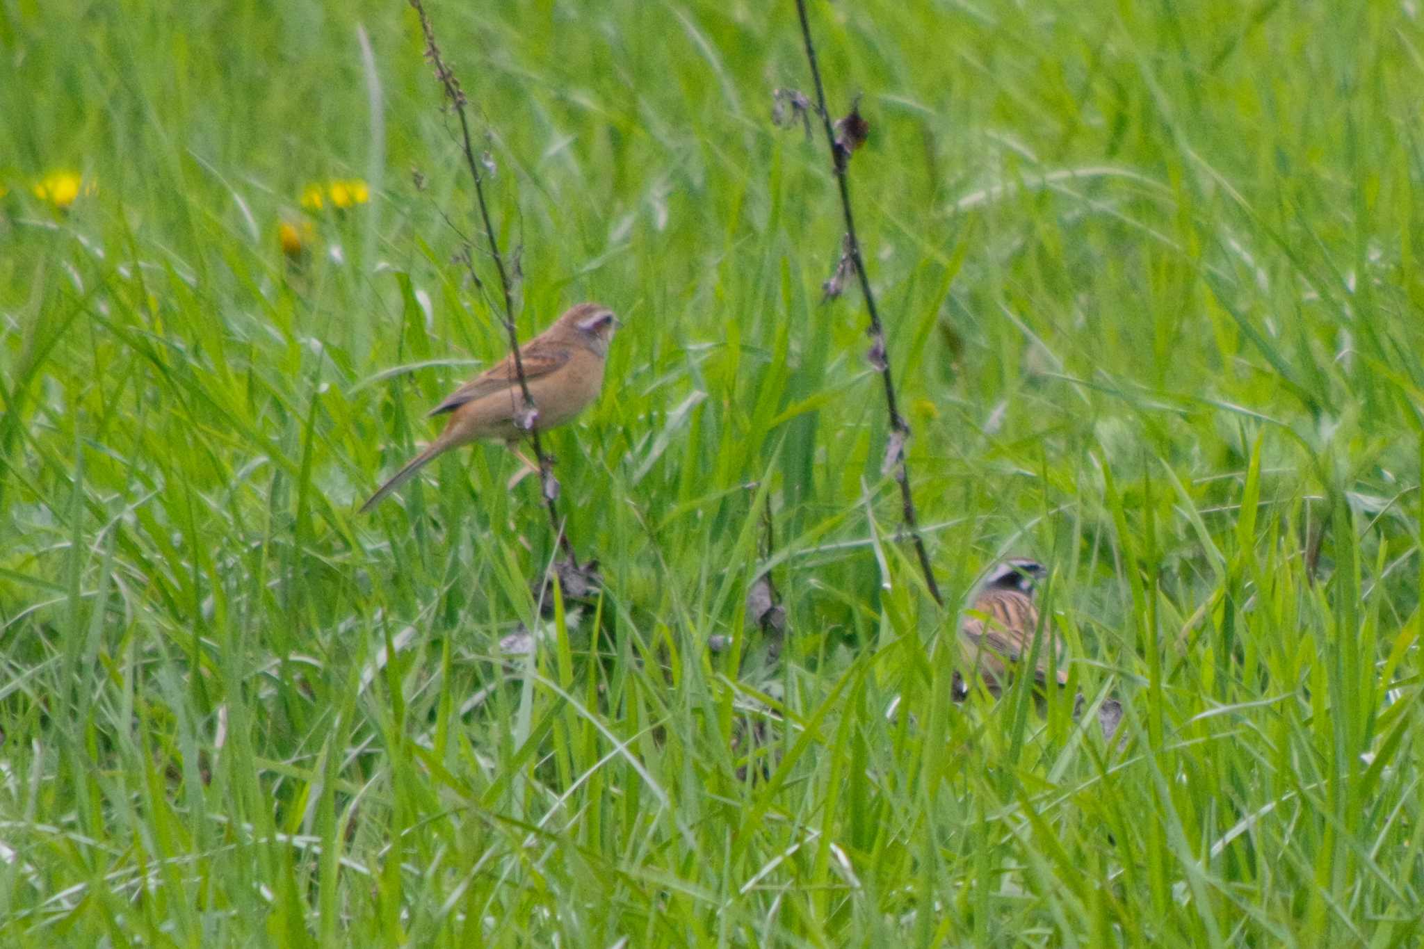
[[[796,13],[800,16],[802,37],[806,40],[806,61],[810,63],[810,75],[816,85],[816,111],[826,129],[826,145],[830,148],[832,168],[836,172],[836,184],[840,186],[840,209],[846,218],[846,253],[860,275],[860,290],[866,296],[866,309],[870,312],[871,353],[877,356],[871,361],[880,370],[880,380],[886,390],[886,408],[890,414],[890,445],[887,447],[887,467],[893,467],[894,479],[900,484],[900,499],[903,502],[904,526],[914,542],[916,555],[920,559],[920,571],[924,573],[924,585],[936,603],[944,605],[940,585],[934,579],[934,568],[930,565],[930,553],[924,548],[924,538],[920,535],[920,521],[914,511],[914,495],[910,492],[910,468],[906,462],[904,442],[910,437],[910,425],[900,414],[894,393],[894,380],[890,376],[890,359],[886,354],[884,327],[880,323],[880,312],[876,309],[876,296],[870,290],[870,277],[866,275],[866,265],[860,256],[860,239],[856,236],[856,216],[850,206],[850,181],[846,176],[850,152],[836,142],[836,131],[830,124],[830,112],[826,108],[826,90],[820,83],[820,67],[816,65],[816,44],[810,38],[810,21],[806,18],[806,0],[796,0]]]

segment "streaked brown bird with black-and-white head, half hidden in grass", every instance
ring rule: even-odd
[[[995,563],[974,590],[968,616],[960,626],[960,643],[984,687],[995,697],[1007,683],[1008,667],[1030,653],[1040,632],[1048,635],[1048,642],[1038,650],[1034,680],[1040,686],[1047,680],[1049,649],[1059,662],[1062,659],[1052,626],[1040,622],[1034,603],[1034,582],[1047,575],[1048,569],[1038,561],[1011,558]],[[1061,667],[1057,680],[1059,686],[1068,683],[1068,673]],[[963,687],[963,683],[956,680],[956,686]]]

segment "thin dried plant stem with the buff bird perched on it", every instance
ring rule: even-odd
[[[456,117],[460,120],[460,148],[464,152],[464,162],[470,169],[470,176],[474,179],[474,199],[476,209],[480,212],[480,221],[484,225],[484,236],[490,245],[490,258],[494,260],[494,270],[500,276],[500,290],[504,295],[504,332],[510,337],[510,353],[514,354],[514,374],[518,376],[520,394],[524,398],[525,415],[530,420],[528,433],[530,442],[534,447],[534,458],[538,461],[540,470],[540,494],[544,498],[544,508],[548,511],[548,522],[554,531],[554,536],[558,538],[558,545],[564,555],[568,558],[570,563],[577,565],[578,559],[574,556],[574,545],[568,539],[568,534],[564,531],[564,524],[558,516],[558,479],[554,478],[554,460],[544,452],[544,445],[540,442],[538,437],[538,407],[534,404],[534,397],[530,396],[528,378],[524,376],[524,360],[520,356],[520,336],[514,326],[514,286],[510,280],[510,273],[504,266],[504,255],[500,253],[500,240],[494,235],[494,223],[490,219],[490,206],[484,199],[484,174],[480,171],[480,159],[474,154],[474,144],[470,139],[470,118],[466,112],[467,101],[464,98],[464,90],[460,88],[460,80],[456,78],[454,73],[444,64],[440,55],[440,47],[436,44],[434,27],[430,26],[430,17],[426,14],[426,9],[422,0],[410,0],[412,9],[420,17],[420,30],[426,37],[426,58],[430,60],[436,70],[436,80],[440,81],[440,87],[444,90],[446,98],[450,101],[450,107],[454,110]],[[466,255],[466,265],[470,267],[470,273],[478,283],[478,276],[474,273],[474,260]]]

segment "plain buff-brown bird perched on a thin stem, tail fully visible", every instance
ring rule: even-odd
[[[571,421],[598,398],[608,344],[618,326],[618,317],[607,306],[578,303],[520,347],[520,363],[535,408],[533,425],[520,393],[513,353],[450,393],[430,410],[431,417],[450,415],[444,431],[380,485],[360,512],[375,508],[420,468],[451,448],[477,440],[503,441],[513,448],[530,427],[545,431]]]

